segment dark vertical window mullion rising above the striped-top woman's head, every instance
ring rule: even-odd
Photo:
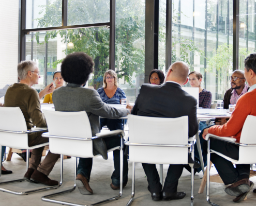
[[[115,0],[110,0],[109,69],[115,71]]]

